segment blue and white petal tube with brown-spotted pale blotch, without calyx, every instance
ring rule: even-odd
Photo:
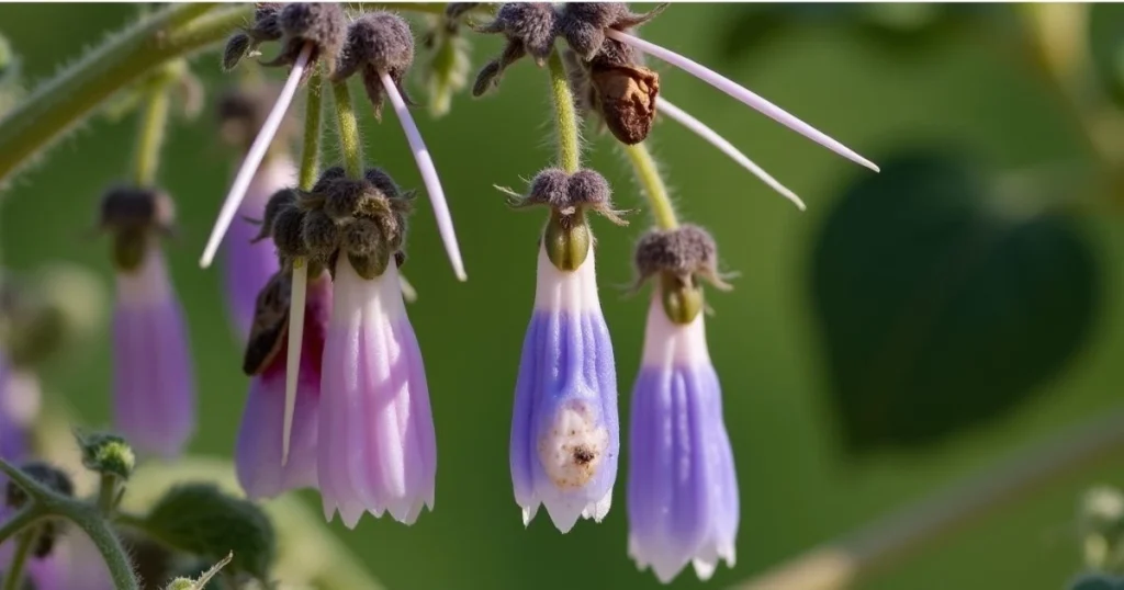
[[[515,390],[510,461],[529,524],[538,506],[569,532],[613,502],[619,448],[613,342],[597,296],[593,251],[573,272],[540,248],[535,310]]]

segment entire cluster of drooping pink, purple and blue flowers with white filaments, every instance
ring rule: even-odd
[[[667,84],[645,65],[645,55],[877,167],[717,72],[640,38],[636,29],[665,9],[661,4],[637,13],[610,2],[504,3],[490,10],[454,3],[429,20],[422,51],[427,53],[427,85],[437,94],[430,97],[435,114],[447,111],[451,94],[465,83],[464,30],[506,39],[501,53],[479,70],[473,96],[497,89],[506,70],[524,56],[549,70],[558,161],[540,170],[524,193],[506,190],[514,208],[546,212],[535,299],[514,383],[509,464],[515,500],[525,525],[540,507],[562,533],[580,518],[599,523],[610,510],[617,466],[627,452],[628,553],[641,569],[651,568],[669,582],[688,564],[708,579],[719,562],[735,561],[737,479],[719,380],[707,350],[703,283],[723,290],[729,285],[718,270],[710,234],[676,217],[644,143],[656,119],[665,116],[801,209],[804,203],[715,130],[668,102]],[[475,21],[482,13],[490,20]],[[261,3],[253,21],[229,38],[223,56],[223,66],[230,70],[272,51],[261,65],[288,69],[279,90],[243,89],[225,97],[218,109],[223,137],[245,155],[201,265],[211,263],[229,233],[227,305],[250,380],[235,448],[237,478],[252,499],[318,489],[325,518],[338,512],[350,528],[364,512],[415,523],[426,507],[433,509],[436,484],[429,390],[400,274],[415,192],[364,160],[352,79],[362,85],[379,121],[387,102],[393,109],[453,272],[466,280],[444,189],[410,114],[414,39],[409,21],[389,11]],[[320,98],[328,89],[334,134],[321,129]],[[154,92],[149,122],[158,127],[163,90]],[[290,139],[297,134],[289,108],[302,92],[303,137],[301,153],[293,157]],[[627,224],[613,207],[606,178],[582,165],[579,128],[586,119],[607,129],[634,164],[654,218],[634,256],[636,289],[651,283],[652,293],[624,447],[591,219]],[[106,193],[100,227],[112,238],[118,279],[117,427],[142,455],[172,459],[194,429],[194,391],[183,312],[160,247],[173,229],[174,215],[171,198],[156,183],[154,137],[160,134],[142,134],[136,182]],[[323,169],[321,137],[338,140],[338,149],[329,152],[338,160]],[[4,411],[4,393],[0,389],[0,452],[18,454],[20,441],[11,433],[19,428],[13,412]],[[173,520],[182,517],[174,508],[166,514]]]

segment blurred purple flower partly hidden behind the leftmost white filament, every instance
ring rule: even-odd
[[[250,219],[262,219],[270,197],[296,183],[297,170],[284,154],[278,154],[257,169],[246,198],[238,208],[238,217],[230,225],[230,239],[226,242],[225,288],[227,308],[239,337],[245,341],[254,323],[254,302],[262,287],[278,269],[273,239],[264,237],[254,242],[261,228]]]

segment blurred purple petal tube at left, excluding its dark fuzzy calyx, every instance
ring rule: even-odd
[[[140,455],[174,459],[196,428],[196,389],[183,310],[164,255],[148,247],[136,272],[117,273],[114,418]]]

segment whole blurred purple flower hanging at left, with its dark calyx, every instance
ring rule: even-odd
[[[187,326],[158,244],[172,218],[171,198],[155,190],[115,188],[102,201],[117,269],[114,419],[139,454],[165,459],[183,451],[196,427]]]

